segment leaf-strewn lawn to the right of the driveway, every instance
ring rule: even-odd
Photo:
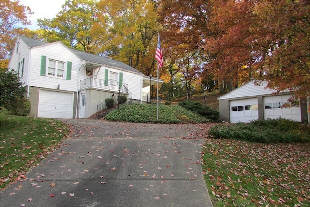
[[[203,173],[215,207],[310,206],[310,143],[207,139]]]

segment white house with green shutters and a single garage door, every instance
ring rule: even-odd
[[[150,84],[157,83],[120,61],[23,36],[17,37],[8,68],[27,86],[29,115],[45,118],[88,118],[119,93],[142,103]]]

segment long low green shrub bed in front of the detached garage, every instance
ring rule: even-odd
[[[210,129],[209,134],[214,138],[258,143],[310,142],[310,127],[287,119],[217,125]]]

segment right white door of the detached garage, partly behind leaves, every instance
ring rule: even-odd
[[[281,95],[281,96],[264,97],[263,99],[264,118],[265,119],[284,118],[300,122],[301,112],[299,101],[295,101],[294,104],[291,104],[290,102],[287,101],[290,97],[292,96]]]

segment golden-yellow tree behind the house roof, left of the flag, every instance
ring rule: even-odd
[[[157,44],[155,2],[107,0],[100,1],[98,9],[98,28],[107,40],[102,50],[109,57],[150,75]]]

